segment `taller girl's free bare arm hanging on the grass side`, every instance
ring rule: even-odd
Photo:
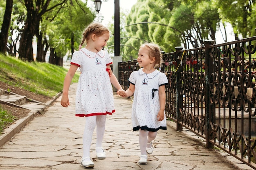
[[[62,90],[62,97],[61,97],[61,106],[63,106],[63,107],[67,107],[70,105],[70,102],[68,99],[68,90],[70,88],[70,84],[71,84],[72,79],[76,73],[77,68],[78,68],[77,65],[71,64],[71,66],[65,76],[63,90]]]

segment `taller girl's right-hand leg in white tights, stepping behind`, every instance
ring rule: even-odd
[[[107,115],[99,115],[97,116],[97,119],[96,119],[96,126],[97,126],[96,152],[97,153],[104,152],[101,148],[102,148],[103,136],[105,133],[106,117]]]

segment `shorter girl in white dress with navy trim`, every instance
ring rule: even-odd
[[[164,73],[155,69],[162,62],[159,46],[148,43],[139,48],[138,71],[131,73],[130,86],[125,92],[118,91],[122,97],[134,96],[132,103],[132,127],[139,130],[141,150],[139,164],[147,164],[147,153],[152,154],[152,141],[159,129],[166,130],[165,85],[168,84]]]

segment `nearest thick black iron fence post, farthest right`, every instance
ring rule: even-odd
[[[213,57],[210,56],[210,45],[214,44],[214,40],[205,40],[204,58],[205,58],[205,137],[206,147],[212,148],[210,143],[210,83],[209,78],[213,73]]]

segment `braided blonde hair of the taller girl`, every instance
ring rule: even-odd
[[[101,36],[106,32],[109,33],[109,30],[103,24],[100,24],[97,22],[91,23],[83,31],[83,40],[80,45],[82,46],[84,42],[87,44],[87,42],[89,41],[90,35],[95,34],[96,36]]]

